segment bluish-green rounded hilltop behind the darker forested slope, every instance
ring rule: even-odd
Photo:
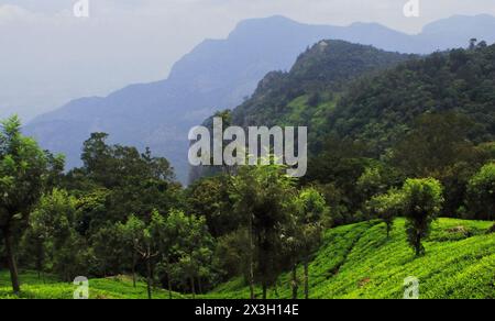
[[[392,68],[415,58],[414,55],[389,53],[343,41],[321,41],[302,53],[288,73],[273,71],[260,81],[256,91],[232,111],[233,122],[248,125],[308,125],[323,107],[333,101],[351,80],[366,74]],[[302,98],[311,98],[305,114],[295,117]]]

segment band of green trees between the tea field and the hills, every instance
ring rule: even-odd
[[[109,145],[105,133],[91,134],[82,166],[66,173],[63,156],[23,136],[14,117],[0,132],[0,254],[14,292],[21,291],[18,267],[65,281],[127,274],[134,286],[145,280],[150,298],[154,287],[168,289],[170,298],[173,291],[195,297],[235,276],[244,277],[251,298],[266,298],[279,274],[292,272],[293,297],[302,288],[309,298],[309,263],[327,229],[383,220],[388,234],[394,218],[405,217],[408,243],[425,255],[431,222],[460,185],[466,198],[457,213],[494,218],[495,164],[487,146],[468,146],[466,155],[481,151],[471,163],[455,154],[455,159],[430,157],[431,165],[414,155],[422,148],[416,154],[429,157],[443,135],[446,153],[464,148],[462,135],[452,139],[455,128],[447,130],[458,120],[449,114],[418,120],[418,128],[431,131],[448,125],[433,133],[436,140],[429,130],[411,131],[386,159],[329,137],[333,147],[312,157],[304,179],[287,177],[278,165],[242,166],[183,188],[165,158]],[[460,159],[461,168],[475,171],[449,184],[460,177],[452,174]],[[409,177],[410,168],[422,177]]]

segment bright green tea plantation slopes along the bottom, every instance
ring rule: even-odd
[[[495,234],[492,222],[440,219],[426,242],[427,255],[415,258],[406,244],[403,219],[395,222],[391,239],[385,225],[359,223],[330,230],[310,264],[311,298],[402,298],[404,279],[420,281],[421,298],[495,298]],[[279,277],[271,298],[289,298],[289,274]],[[302,270],[299,269],[302,280]],[[75,286],[36,274],[21,275],[22,298],[72,298]],[[12,298],[9,274],[0,272],[0,298]],[[301,283],[302,284],[302,283]],[[90,280],[91,298],[146,298],[146,287],[132,287],[129,278]],[[257,289],[261,296],[261,290]],[[302,285],[299,288],[302,296]],[[155,298],[168,292],[155,290]],[[174,298],[184,298],[174,294]],[[249,298],[242,279],[218,287],[202,298]]]

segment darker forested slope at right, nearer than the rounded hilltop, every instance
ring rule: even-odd
[[[450,111],[472,120],[469,136],[473,142],[492,141],[494,60],[495,45],[482,43],[363,77],[346,89],[329,115],[329,129],[340,136],[365,141],[373,152],[383,153],[418,117]]]

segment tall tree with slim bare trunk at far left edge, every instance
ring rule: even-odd
[[[21,122],[12,117],[0,131],[0,229],[2,230],[12,289],[19,294],[14,243],[15,229],[25,223],[43,192],[47,159],[36,142],[21,134]]]

